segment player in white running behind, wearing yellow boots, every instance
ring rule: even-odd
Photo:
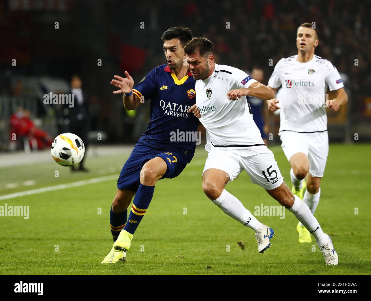
[[[298,27],[298,54],[280,59],[268,81],[268,87],[275,92],[282,85],[284,100],[282,104],[277,98],[267,100],[270,111],[280,108],[279,136],[291,164],[292,192],[303,199],[313,214],[319,202],[328,155],[325,107],[338,111],[348,100],[338,70],[331,62],[314,54],[318,43],[318,31],[312,29],[310,23]],[[334,100],[328,101],[327,88],[335,90]],[[312,241],[311,234],[301,223],[296,230],[299,242]]]

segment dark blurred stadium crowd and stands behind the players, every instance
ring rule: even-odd
[[[105,142],[135,142],[148,124],[149,106],[125,111],[109,82],[125,70],[138,82],[164,64],[161,34],[180,25],[214,42],[218,64],[246,71],[260,66],[267,84],[279,59],[297,53],[298,25],[315,22],[315,53],[338,68],[349,96],[343,112],[329,114],[329,137],[349,142],[359,133],[360,140],[371,140],[370,16],[370,0],[1,1],[0,151],[27,144],[9,147],[12,116],[20,112],[47,139],[70,130],[64,116],[70,113],[44,104],[43,95],[69,93],[73,74],[83,83],[86,139],[103,133]],[[278,117],[269,119],[267,130],[276,134]]]

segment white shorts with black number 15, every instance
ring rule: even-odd
[[[268,190],[277,188],[283,182],[273,153],[263,145],[243,149],[211,146],[203,172],[210,168],[225,171],[229,175],[228,182],[233,181],[244,169],[253,184]]]

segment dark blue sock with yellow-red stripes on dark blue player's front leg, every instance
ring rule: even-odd
[[[137,230],[140,221],[151,203],[154,190],[154,186],[139,184],[138,191],[135,194],[133,205],[129,213],[129,222],[124,227],[125,231],[134,234],[135,230]]]

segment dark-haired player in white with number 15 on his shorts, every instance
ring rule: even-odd
[[[184,48],[188,68],[196,80],[196,104],[206,129],[209,152],[202,177],[205,194],[223,210],[256,234],[258,251],[270,247],[273,230],[260,223],[224,186],[246,170],[251,182],[291,211],[309,229],[325,257],[337,265],[338,255],[309,207],[283,182],[273,153],[265,146],[246,96],[267,100],[273,92],[240,69],[214,62],[214,45],[206,38],[193,38]]]

